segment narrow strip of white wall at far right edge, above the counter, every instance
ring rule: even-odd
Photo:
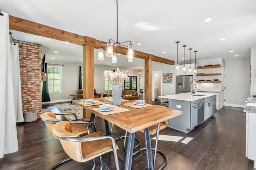
[[[251,47],[251,87],[250,96],[256,95],[256,46]]]

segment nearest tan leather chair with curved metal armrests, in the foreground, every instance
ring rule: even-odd
[[[71,124],[76,124],[79,122],[80,121],[60,121],[56,123],[52,128],[54,135],[60,138],[60,143],[68,156],[78,162],[87,162],[88,160],[92,160],[100,156],[102,169],[103,163],[107,168],[109,167],[101,155],[113,151],[116,162],[116,169],[119,170],[118,157],[116,152],[118,145],[116,145],[114,138],[110,135],[105,135],[100,131],[79,137],[79,135],[73,133],[71,128]],[[92,169],[95,168],[95,165],[96,164],[94,161],[94,166]]]

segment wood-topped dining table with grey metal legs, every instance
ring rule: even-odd
[[[112,97],[94,98],[94,100],[96,100],[98,104],[112,104]],[[104,119],[107,135],[110,135],[108,122],[128,132],[128,143],[124,166],[125,170],[132,169],[135,133],[144,129],[148,169],[154,169],[149,127],[179,116],[182,114],[182,111],[169,109],[168,107],[163,108],[158,105],[151,104],[146,104],[146,106],[133,105],[135,101],[122,100],[121,105],[113,107],[114,110],[119,110],[120,112],[113,114],[108,114],[105,111],[99,111],[99,105],[97,102],[92,105],[84,104],[84,100],[73,100],[73,102],[74,104],[91,112],[90,121],[94,121],[95,115]]]

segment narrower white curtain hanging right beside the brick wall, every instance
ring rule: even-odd
[[[16,122],[24,122],[21,100],[21,85],[20,85],[20,55],[18,43],[11,43],[11,59],[12,59],[12,79],[14,86],[14,105],[16,113]]]

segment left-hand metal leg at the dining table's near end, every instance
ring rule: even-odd
[[[133,147],[134,147],[134,138],[135,138],[135,133],[128,134],[127,152],[126,152],[126,160],[125,160],[125,167],[124,167],[125,170],[132,169],[132,154],[133,154]]]

